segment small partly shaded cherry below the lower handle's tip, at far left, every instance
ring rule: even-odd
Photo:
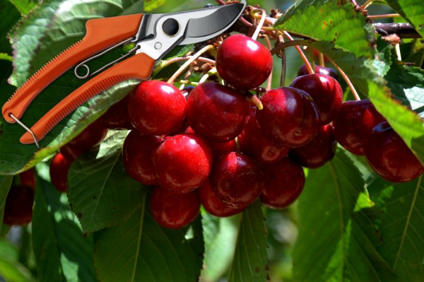
[[[73,160],[65,158],[61,153],[57,153],[50,163],[50,180],[59,192],[68,191],[68,172]]]

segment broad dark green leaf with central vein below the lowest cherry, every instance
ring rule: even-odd
[[[102,231],[95,242],[101,281],[197,281],[203,257],[201,221],[167,229],[155,222],[146,193],[141,208],[123,223]]]

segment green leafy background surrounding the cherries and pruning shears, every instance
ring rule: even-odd
[[[0,104],[33,72],[84,35],[90,18],[143,11],[199,8],[207,1],[6,0],[0,4]],[[424,163],[424,71],[399,65],[394,49],[376,37],[350,1],[248,1],[288,8],[275,27],[307,37],[303,45],[323,52],[343,69]],[[420,0],[387,0],[423,35]],[[290,8],[288,7],[290,6]],[[377,44],[378,48],[372,46]],[[422,64],[423,42],[405,40],[403,57]],[[93,62],[102,66],[122,50]],[[177,49],[181,56],[187,49]],[[286,85],[301,62],[287,49]],[[273,86],[281,66],[276,59]],[[169,70],[170,72],[171,69]],[[164,73],[162,73],[164,74]],[[159,75],[159,74],[158,74]],[[305,190],[290,208],[259,203],[231,218],[202,211],[187,228],[167,230],[151,217],[150,187],[126,175],[120,155],[124,131],[71,167],[69,192],[49,183],[49,158],[100,117],[139,81],[100,93],[66,117],[41,143],[18,143],[23,129],[0,120],[0,218],[8,189],[21,170],[35,166],[33,223],[0,223],[0,277],[6,281],[424,281],[424,184],[385,182],[364,158],[339,147],[324,167],[307,170]],[[81,85],[69,71],[33,102],[22,121],[33,124]],[[346,89],[346,96],[350,96]],[[72,208],[71,208],[72,206]],[[266,219],[264,221],[264,219]],[[11,235],[19,233],[20,235]],[[13,237],[19,237],[14,244]],[[19,247],[18,247],[19,246]]]

